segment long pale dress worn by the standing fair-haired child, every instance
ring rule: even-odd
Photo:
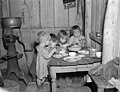
[[[45,46],[37,46],[37,62],[36,62],[36,75],[38,79],[43,79],[48,75],[48,62],[49,59],[45,58],[48,55],[47,48]]]

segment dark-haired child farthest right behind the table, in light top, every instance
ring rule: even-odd
[[[82,35],[82,30],[77,25],[73,26],[71,31],[70,31],[69,44],[79,45],[80,47],[84,47],[85,38]]]

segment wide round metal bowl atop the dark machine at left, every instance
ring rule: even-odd
[[[3,28],[20,28],[22,24],[21,17],[3,17],[1,25]]]

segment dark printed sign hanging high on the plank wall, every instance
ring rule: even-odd
[[[76,7],[76,0],[63,0],[65,9]]]

